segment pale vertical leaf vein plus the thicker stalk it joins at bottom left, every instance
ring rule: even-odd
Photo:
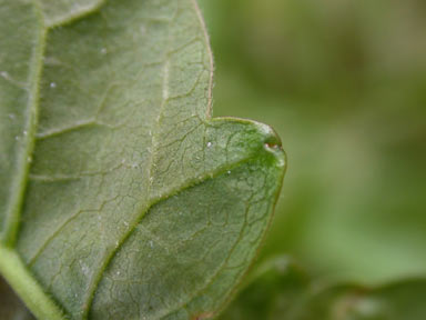
[[[2,243],[0,243],[0,271],[33,314],[40,319],[62,320],[65,318],[60,307],[51,297],[45,294],[45,288],[34,279],[28,266],[22,262],[21,257],[14,249],[31,167],[30,159],[34,150],[39,117],[40,79],[48,33],[39,2],[32,0],[31,3],[39,22],[39,30],[29,61],[29,76],[26,86],[28,100],[22,144],[17,156],[16,179],[11,183],[11,197],[6,211],[4,238],[1,239]]]

